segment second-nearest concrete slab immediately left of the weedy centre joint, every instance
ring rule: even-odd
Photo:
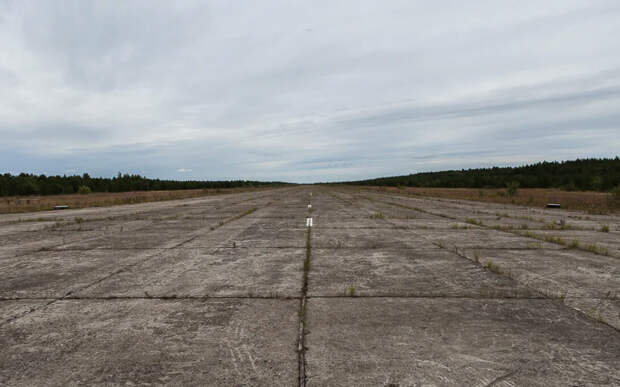
[[[167,250],[78,297],[299,297],[304,249]]]

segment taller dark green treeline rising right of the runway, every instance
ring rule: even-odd
[[[521,167],[426,172],[350,181],[344,184],[442,188],[505,188],[508,184],[514,184],[515,182],[521,188],[609,191],[620,185],[620,158],[616,156],[613,159],[545,161]]]

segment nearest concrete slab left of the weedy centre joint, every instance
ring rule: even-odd
[[[2,385],[297,383],[296,300],[60,301],[0,327]]]

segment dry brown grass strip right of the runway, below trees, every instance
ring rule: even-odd
[[[559,203],[564,209],[585,211],[590,214],[608,214],[619,210],[612,195],[605,192],[561,191],[547,188],[520,188],[515,196],[506,195],[505,189],[478,188],[418,188],[418,187],[360,187],[380,192],[393,192],[413,196],[430,196],[447,199],[474,200],[529,207],[544,207]]]

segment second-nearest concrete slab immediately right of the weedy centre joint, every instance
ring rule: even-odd
[[[536,297],[443,249],[314,249],[309,296]]]

